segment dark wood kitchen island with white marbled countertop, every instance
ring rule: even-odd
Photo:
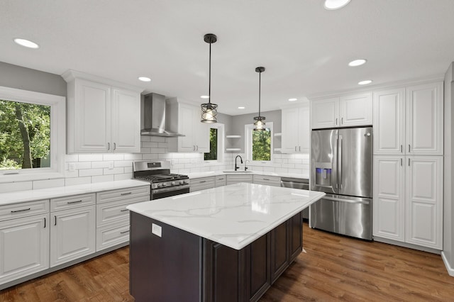
[[[302,250],[325,194],[233,184],[128,206],[135,301],[258,301]]]

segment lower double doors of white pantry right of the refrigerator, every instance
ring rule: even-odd
[[[374,236],[443,249],[443,157],[374,157]]]

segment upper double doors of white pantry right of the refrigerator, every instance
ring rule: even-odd
[[[374,92],[375,155],[443,155],[443,83]]]

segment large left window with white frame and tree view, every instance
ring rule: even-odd
[[[0,182],[63,177],[65,97],[0,86]]]

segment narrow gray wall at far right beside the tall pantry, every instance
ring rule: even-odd
[[[454,242],[453,242],[453,133],[454,133],[454,82],[453,82],[453,63],[445,74],[445,96],[444,96],[444,193],[443,193],[443,254],[451,269],[454,269]]]

